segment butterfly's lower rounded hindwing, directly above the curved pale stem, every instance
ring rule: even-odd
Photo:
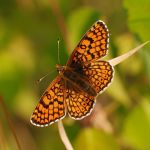
[[[88,116],[95,104],[94,96],[67,84],[66,106],[68,114],[73,119],[82,119]]]

